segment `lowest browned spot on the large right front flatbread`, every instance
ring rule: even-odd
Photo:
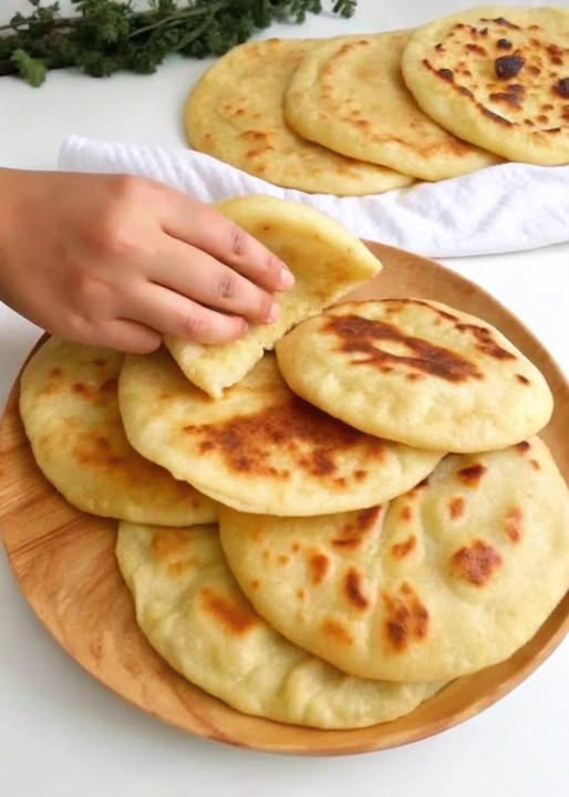
[[[404,582],[399,592],[382,592],[385,605],[384,631],[387,643],[401,653],[413,642],[424,640],[428,632],[428,611],[418,596]]]

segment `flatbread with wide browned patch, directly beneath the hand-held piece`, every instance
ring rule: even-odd
[[[236,509],[320,515],[413,487],[438,452],[356,432],[294,396],[267,354],[223,398],[208,398],[162,351],[127,355],[121,413],[133,446]]]

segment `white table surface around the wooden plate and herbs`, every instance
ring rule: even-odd
[[[360,0],[348,23],[323,15],[303,29],[275,27],[270,33],[404,28],[466,6],[457,0]],[[15,0],[1,2],[2,21],[23,7]],[[206,64],[172,60],[153,76],[103,81],[58,73],[41,90],[3,77],[0,163],[52,168],[70,133],[183,144],[180,107]],[[517,313],[569,374],[568,261],[569,245],[563,245],[446,265]],[[0,405],[38,334],[0,304]],[[569,794],[568,751],[569,641],[482,715],[395,751],[283,757],[183,735],[126,705],[71,661],[35,620],[0,555],[0,794],[6,797],[239,797],[265,791],[271,797],[560,797]]]

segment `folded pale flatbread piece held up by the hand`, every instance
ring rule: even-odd
[[[214,397],[239,382],[291,327],[333,304],[382,268],[355,236],[298,203],[257,194],[227,199],[217,208],[281,258],[296,283],[277,294],[280,315],[275,323],[252,327],[231,343],[165,339],[186,376]]]

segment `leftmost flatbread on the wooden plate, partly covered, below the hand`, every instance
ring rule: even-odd
[[[215,503],[128,444],[117,402],[123,355],[50,338],[25,365],[20,414],[49,482],[83,511],[164,526],[211,522]]]

